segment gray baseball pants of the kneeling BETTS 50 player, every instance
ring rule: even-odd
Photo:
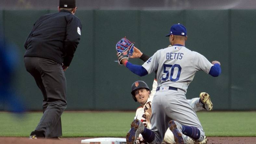
[[[155,133],[154,144],[160,144],[166,130],[169,128],[169,121],[175,120],[184,126],[195,126],[200,130],[200,138],[204,139],[204,131],[197,117],[196,112],[186,100],[183,90],[160,90],[156,92],[152,101],[151,130]]]

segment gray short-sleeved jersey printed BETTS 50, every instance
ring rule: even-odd
[[[171,86],[186,92],[196,71],[209,73],[213,65],[203,55],[185,46],[174,45],[158,50],[142,66],[148,74],[158,69],[158,87]]]

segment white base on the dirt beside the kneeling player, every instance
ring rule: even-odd
[[[126,144],[125,138],[90,138],[84,139],[81,143],[85,144]]]

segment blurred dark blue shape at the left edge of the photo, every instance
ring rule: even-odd
[[[17,63],[16,46],[5,41],[0,33],[0,102],[4,103],[4,110],[22,113],[24,104],[16,96],[12,88],[14,72]]]

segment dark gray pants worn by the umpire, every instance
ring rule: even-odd
[[[60,116],[67,106],[67,85],[62,66],[41,57],[25,57],[24,63],[44,97],[44,114],[35,130],[44,131],[45,138],[62,136]]]

